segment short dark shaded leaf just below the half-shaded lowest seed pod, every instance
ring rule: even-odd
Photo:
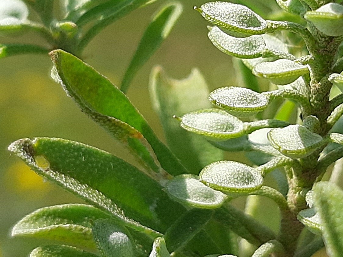
[[[174,252],[184,247],[206,225],[212,210],[191,209],[184,213],[165,233],[167,249]]]

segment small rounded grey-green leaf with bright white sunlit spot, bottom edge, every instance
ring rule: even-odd
[[[92,229],[100,252],[106,257],[134,257],[132,237],[125,227],[111,219],[99,219]]]

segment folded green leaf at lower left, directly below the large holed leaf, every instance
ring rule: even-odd
[[[12,236],[28,236],[96,248],[93,221],[110,216],[91,205],[66,204],[38,209],[20,220]]]

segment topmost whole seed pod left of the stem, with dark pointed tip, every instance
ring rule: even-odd
[[[241,4],[209,2],[196,10],[207,21],[234,37],[264,34],[267,29],[267,22],[261,16]]]

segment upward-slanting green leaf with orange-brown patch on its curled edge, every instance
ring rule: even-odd
[[[50,53],[50,56],[55,65],[55,79],[92,119],[104,126],[111,135],[119,140],[128,141],[125,137],[123,138],[124,135],[129,134],[128,130],[139,131],[141,134],[131,132],[131,135],[128,135],[131,141],[135,141],[132,144],[134,146],[130,145],[130,142],[128,143],[136,155],[140,156],[150,167],[154,162],[153,155],[156,154],[162,168],[170,174],[187,173],[180,161],[157,138],[129,99],[108,79],[70,53],[55,50]],[[134,140],[134,138],[142,139],[142,135],[149,142],[153,151],[149,150],[150,147],[146,143]],[[143,153],[140,154],[142,151]],[[142,156],[144,157],[142,158]],[[155,164],[158,165],[158,163]],[[155,168],[152,167],[152,169]]]

